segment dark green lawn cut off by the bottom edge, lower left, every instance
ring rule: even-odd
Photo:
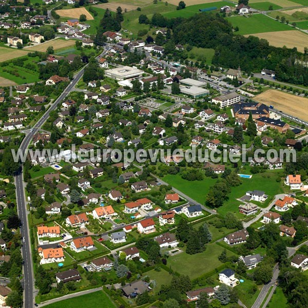
[[[73,297],[70,299],[62,300],[50,305],[46,308],[75,308],[82,303],[83,308],[104,307],[114,308],[115,304],[103,291],[93,292],[90,294]]]

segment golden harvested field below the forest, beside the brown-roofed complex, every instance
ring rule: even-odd
[[[306,98],[278,90],[267,90],[254,97],[254,100],[267,106],[273,105],[275,109],[308,121],[308,99]]]

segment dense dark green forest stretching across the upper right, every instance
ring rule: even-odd
[[[308,85],[308,67],[295,64],[296,59],[308,61],[308,56],[296,48],[277,48],[256,36],[236,35],[227,20],[213,14],[201,13],[181,23],[169,23],[176,44],[214,48],[213,64],[216,66],[238,68],[240,65],[246,72],[267,68],[275,70],[279,81]]]

